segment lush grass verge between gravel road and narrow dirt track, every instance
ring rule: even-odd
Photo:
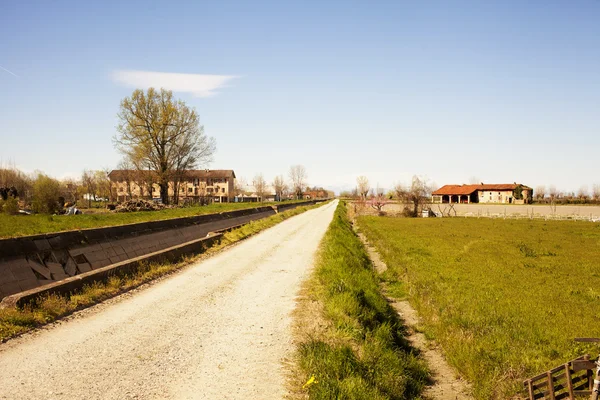
[[[298,305],[318,303],[297,322],[316,324],[300,332],[296,390],[307,382],[311,399],[415,399],[428,372],[404,339],[397,314],[383,297],[369,257],[352,231],[341,202]],[[304,319],[304,320],[303,320]],[[302,329],[302,328],[300,328]],[[312,379],[311,379],[312,377]]]

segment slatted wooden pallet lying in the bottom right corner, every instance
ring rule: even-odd
[[[596,364],[589,354],[523,382],[530,400],[576,399],[592,394]]]

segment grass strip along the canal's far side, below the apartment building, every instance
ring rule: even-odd
[[[215,203],[207,206],[171,208],[160,211],[138,211],[130,213],[101,213],[81,215],[6,215],[0,214],[0,238],[37,235],[87,228],[101,228],[134,224],[137,222],[191,217],[194,215],[220,213],[271,206],[282,203]],[[283,204],[287,204],[283,203]]]

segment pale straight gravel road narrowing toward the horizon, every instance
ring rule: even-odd
[[[283,398],[290,313],[336,205],[0,345],[0,398]]]

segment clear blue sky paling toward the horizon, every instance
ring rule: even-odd
[[[0,0],[0,159],[115,167],[120,100],[173,78],[143,72],[216,75],[175,91],[210,168],[576,191],[600,183],[599,21],[599,0]]]

